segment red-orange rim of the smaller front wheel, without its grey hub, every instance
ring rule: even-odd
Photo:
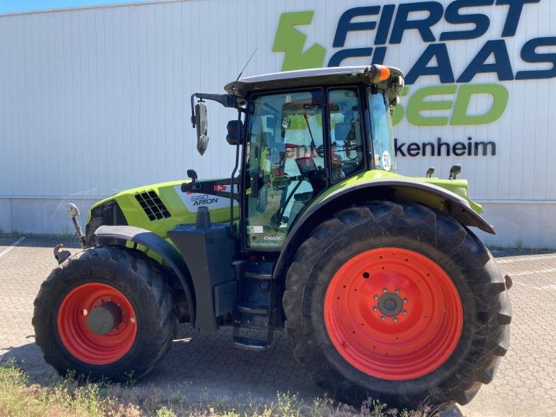
[[[119,322],[106,334],[97,334],[90,329],[87,318],[104,303],[111,303]],[[106,284],[83,284],[70,291],[60,304],[56,324],[65,348],[91,365],[106,365],[121,359],[137,336],[136,314],[131,303],[120,291]]]

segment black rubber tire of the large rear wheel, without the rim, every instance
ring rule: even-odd
[[[338,353],[327,333],[324,299],[332,277],[348,259],[380,247],[427,256],[457,288],[461,336],[450,357],[427,375],[393,381],[363,373]],[[320,386],[343,402],[371,397],[393,407],[471,401],[507,352],[512,318],[505,281],[480,240],[448,215],[411,202],[370,202],[322,222],[288,270],[284,312],[295,357]]]

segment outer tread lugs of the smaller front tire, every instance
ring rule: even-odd
[[[54,325],[49,322],[50,315],[47,313],[47,309],[54,304],[61,283],[67,286],[71,284],[72,279],[86,276],[92,268],[99,268],[99,265],[106,270],[106,275],[111,279],[133,276],[137,283],[137,288],[134,288],[134,291],[142,291],[142,294],[148,294],[147,298],[154,300],[157,305],[156,328],[149,329],[149,334],[152,337],[146,343],[150,354],[144,354],[141,358],[129,361],[132,365],[131,368],[133,368],[133,377],[143,377],[154,368],[172,345],[172,340],[177,334],[177,306],[172,292],[167,288],[164,272],[158,263],[138,250],[121,246],[89,248],[71,256],[54,268],[49,277],[41,284],[40,291],[35,298],[35,312],[32,320],[35,328],[35,341],[44,354],[44,360],[56,368],[60,374],[65,375],[69,369],[67,366],[70,360],[65,359],[67,353],[60,352],[60,342],[53,334]],[[148,303],[149,300],[142,300],[142,305],[138,308],[148,308],[148,304],[145,303]],[[74,359],[74,363],[75,361],[83,364],[77,359]],[[109,369],[111,367],[104,368],[106,373],[102,367],[91,366],[90,372],[86,376],[91,379],[108,377],[114,381],[129,378],[120,369],[112,371]]]

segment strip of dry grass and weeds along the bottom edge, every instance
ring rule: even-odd
[[[368,400],[361,409],[332,402],[329,398],[304,401],[297,395],[277,393],[271,401],[231,398],[192,400],[187,384],[170,389],[122,386],[107,382],[79,384],[70,377],[57,378],[47,386],[31,384],[15,363],[0,363],[0,416],[14,417],[433,417],[434,411],[388,410]]]

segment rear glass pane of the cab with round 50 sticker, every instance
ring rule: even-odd
[[[375,166],[380,170],[395,172],[395,149],[389,105],[382,92],[372,92],[370,88],[368,99]]]

